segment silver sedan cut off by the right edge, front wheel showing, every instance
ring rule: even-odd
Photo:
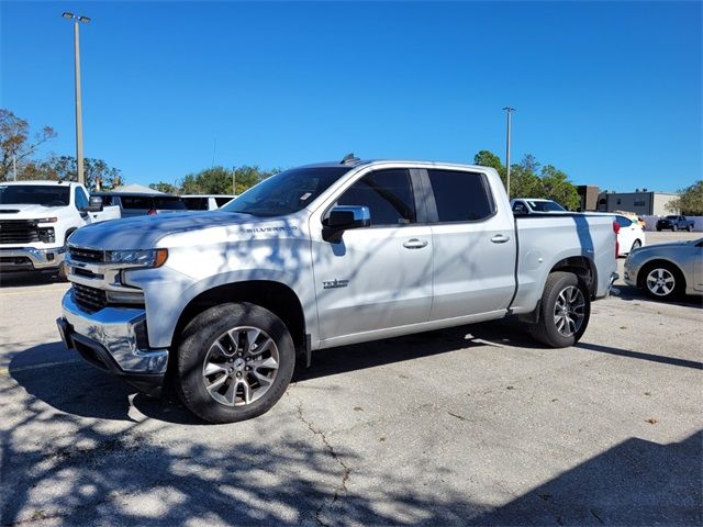
[[[703,238],[633,250],[625,260],[624,279],[659,300],[703,294]]]

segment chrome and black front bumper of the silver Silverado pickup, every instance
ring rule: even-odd
[[[168,367],[168,349],[150,349],[143,309],[103,307],[86,313],[69,290],[56,321],[68,348],[102,371],[118,375],[137,390],[159,395]]]

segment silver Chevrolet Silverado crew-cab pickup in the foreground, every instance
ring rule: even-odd
[[[235,422],[268,411],[316,349],[507,315],[571,346],[615,250],[612,218],[513,217],[493,169],[347,157],[220,211],[79,229],[57,322],[98,368]]]

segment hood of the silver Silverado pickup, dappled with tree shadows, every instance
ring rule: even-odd
[[[219,211],[156,214],[87,225],[71,235],[70,245],[105,250],[150,249],[157,247],[161,238],[175,234],[212,227],[234,233],[261,223],[280,223],[280,220]]]

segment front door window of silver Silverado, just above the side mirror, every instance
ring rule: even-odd
[[[365,205],[371,225],[415,223],[415,200],[406,169],[377,170],[364,176],[337,200],[338,205]]]

